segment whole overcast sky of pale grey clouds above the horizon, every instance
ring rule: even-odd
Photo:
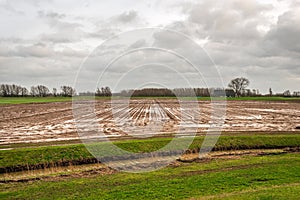
[[[146,27],[187,35],[203,52],[168,31],[153,35],[134,31]],[[59,88],[73,85],[80,66],[87,66],[90,74],[80,72],[78,90],[92,90],[96,86],[91,80],[95,79],[117,90],[143,84],[180,87],[187,85],[186,80],[196,87],[222,81],[226,86],[241,76],[249,78],[250,88],[262,93],[269,87],[274,92],[300,90],[297,0],[0,0],[0,30],[0,83]],[[121,33],[126,31],[131,32],[123,37]],[[118,34],[125,38],[124,44],[108,40]],[[91,55],[103,53],[103,46],[105,54],[113,52],[106,59],[124,53],[120,51],[124,47],[149,46],[164,51],[123,55],[99,80],[105,62],[96,60],[93,67],[88,64],[92,63]],[[211,63],[206,62],[204,52]],[[200,68],[202,77],[180,59],[188,55],[193,62],[206,65],[207,71]],[[219,72],[220,81],[214,80],[217,75],[213,77],[211,72]]]

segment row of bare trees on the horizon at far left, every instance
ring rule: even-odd
[[[76,95],[76,91],[71,86],[61,86],[61,92],[57,92],[56,88],[53,88],[50,92],[49,88],[44,85],[31,86],[30,90],[26,87],[15,84],[1,84],[0,96],[2,97],[47,97],[47,96],[64,96],[72,97]]]

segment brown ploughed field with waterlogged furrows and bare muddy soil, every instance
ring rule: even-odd
[[[113,115],[110,101],[97,101],[97,122],[103,133],[114,137],[207,131],[211,103],[199,101],[199,110],[195,102],[185,103],[183,109],[177,100],[132,100],[129,108],[113,105]],[[74,121],[71,102],[0,106],[0,144],[78,139]],[[222,130],[296,131],[296,126],[300,126],[299,103],[228,101]]]

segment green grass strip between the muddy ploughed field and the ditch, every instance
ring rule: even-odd
[[[196,137],[190,145],[189,151],[198,152],[203,139],[203,136]],[[148,140],[116,141],[114,144],[131,152],[153,152],[168,144],[170,140],[171,138],[154,138]],[[298,147],[299,144],[300,134],[221,136],[213,150],[275,149]],[[103,147],[107,143],[103,142],[97,145]],[[89,162],[94,163],[96,160],[83,144],[0,151],[1,173],[49,168],[52,166],[86,164]]]

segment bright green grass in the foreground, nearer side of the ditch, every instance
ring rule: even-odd
[[[298,199],[300,154],[245,156],[115,173],[3,184],[2,199]]]

